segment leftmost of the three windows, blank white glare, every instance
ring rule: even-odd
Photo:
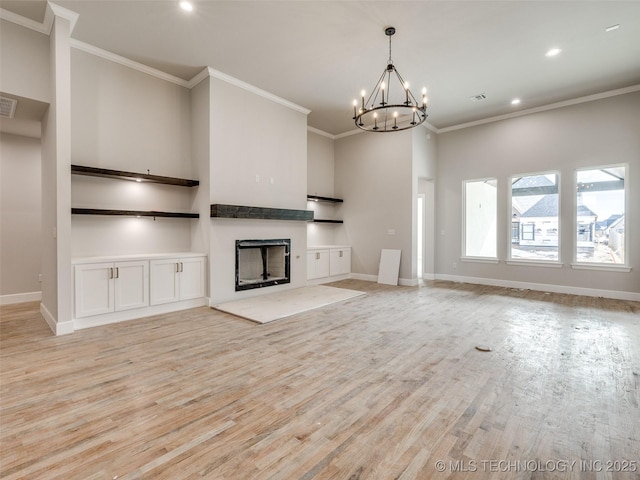
[[[498,180],[464,182],[464,256],[496,258]]]

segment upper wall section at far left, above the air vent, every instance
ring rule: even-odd
[[[0,20],[0,91],[51,101],[49,36]]]

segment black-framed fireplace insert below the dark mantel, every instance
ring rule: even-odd
[[[291,240],[236,240],[236,292],[289,283]]]

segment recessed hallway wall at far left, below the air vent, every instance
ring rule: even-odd
[[[40,163],[40,139],[0,134],[0,303],[40,296]]]

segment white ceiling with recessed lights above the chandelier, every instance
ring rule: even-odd
[[[77,40],[185,80],[212,67],[308,108],[331,134],[354,130],[352,101],[386,66],[388,25],[394,64],[416,96],[428,87],[436,128],[640,84],[640,1],[55,3],[80,15]],[[0,7],[44,17],[40,1]],[[545,57],[551,47],[562,53]]]

